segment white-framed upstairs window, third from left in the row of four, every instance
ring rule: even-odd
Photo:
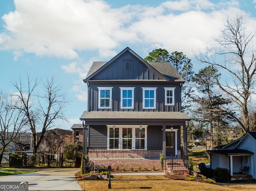
[[[156,88],[142,88],[143,109],[156,109]]]

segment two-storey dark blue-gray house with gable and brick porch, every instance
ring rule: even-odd
[[[94,166],[152,169],[161,153],[187,163],[190,117],[180,111],[184,79],[172,64],[146,62],[127,47],[109,62],[94,62],[84,83],[88,111],[80,120]]]

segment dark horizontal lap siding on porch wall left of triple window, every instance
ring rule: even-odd
[[[107,147],[107,126],[91,125],[89,128],[88,147]]]

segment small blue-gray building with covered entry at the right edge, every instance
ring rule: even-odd
[[[256,178],[256,132],[247,132],[235,141],[210,150],[211,168],[222,167],[230,170],[232,179],[252,175]],[[246,167],[246,171],[244,171]],[[249,167],[249,168],[248,168]]]

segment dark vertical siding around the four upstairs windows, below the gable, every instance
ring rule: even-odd
[[[112,108],[98,109],[98,87],[112,88]],[[121,90],[120,87],[134,87],[134,109],[121,109]],[[156,109],[143,109],[143,89],[142,87],[156,88]],[[165,105],[164,88],[175,88],[174,105]],[[94,84],[89,86],[89,111],[180,111],[181,94],[179,84]]]

